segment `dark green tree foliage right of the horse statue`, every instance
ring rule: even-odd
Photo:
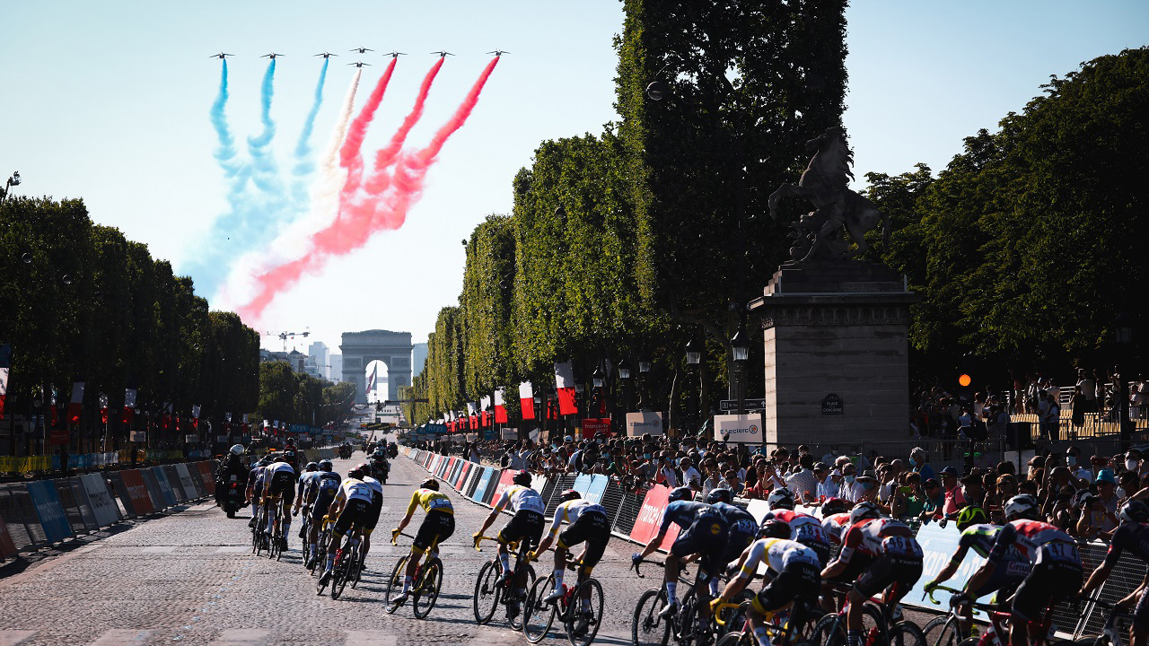
[[[872,176],[907,218],[885,257],[925,301],[913,345],[1033,364],[1082,359],[1135,315],[1146,272],[1149,49],[1052,77],[1001,130],[965,139],[936,179]]]

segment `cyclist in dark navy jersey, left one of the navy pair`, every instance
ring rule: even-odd
[[[693,554],[701,555],[699,572],[694,579],[694,592],[700,600],[709,598],[710,591],[707,582],[710,579],[711,572],[717,571],[720,567],[718,559],[726,549],[726,532],[728,530],[722,514],[705,502],[696,502],[694,491],[688,486],[672,489],[666,495],[666,500],[669,503],[662,512],[658,533],[650,539],[650,543],[647,543],[641,553],[631,555],[631,561],[637,566],[662,545],[671,523],[679,526],[678,538],[674,539],[673,545],[670,546],[670,553],[666,554],[664,577],[666,606],[658,612],[663,618],[669,618],[678,612],[679,563]],[[700,609],[702,610],[699,613],[700,623],[709,621],[710,606],[702,603]]]

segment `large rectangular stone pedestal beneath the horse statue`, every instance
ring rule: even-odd
[[[764,440],[903,440],[909,306],[900,274],[866,262],[782,266],[750,303],[765,338]]]

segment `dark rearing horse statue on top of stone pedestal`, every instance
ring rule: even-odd
[[[789,237],[794,239],[791,259],[805,262],[812,260],[846,260],[863,255],[869,248],[867,231],[882,224],[882,240],[889,243],[889,217],[878,210],[869,199],[848,186],[854,178],[850,166],[854,153],[846,145],[846,136],[840,128],[827,128],[822,136],[805,143],[807,152],[813,157],[805,167],[797,186],[782,184],[770,194],[770,216],[778,220],[778,202],[784,195],[796,195],[813,203],[815,210],[792,223]],[[842,238],[842,228],[857,245],[851,254]]]

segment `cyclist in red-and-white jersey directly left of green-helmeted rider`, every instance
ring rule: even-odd
[[[897,602],[921,578],[921,546],[909,525],[882,518],[873,502],[854,507],[850,526],[842,535],[842,551],[822,571],[826,579],[854,582],[846,595],[848,646],[862,644],[862,606],[874,594],[885,591],[882,602],[894,608],[896,620]]]

